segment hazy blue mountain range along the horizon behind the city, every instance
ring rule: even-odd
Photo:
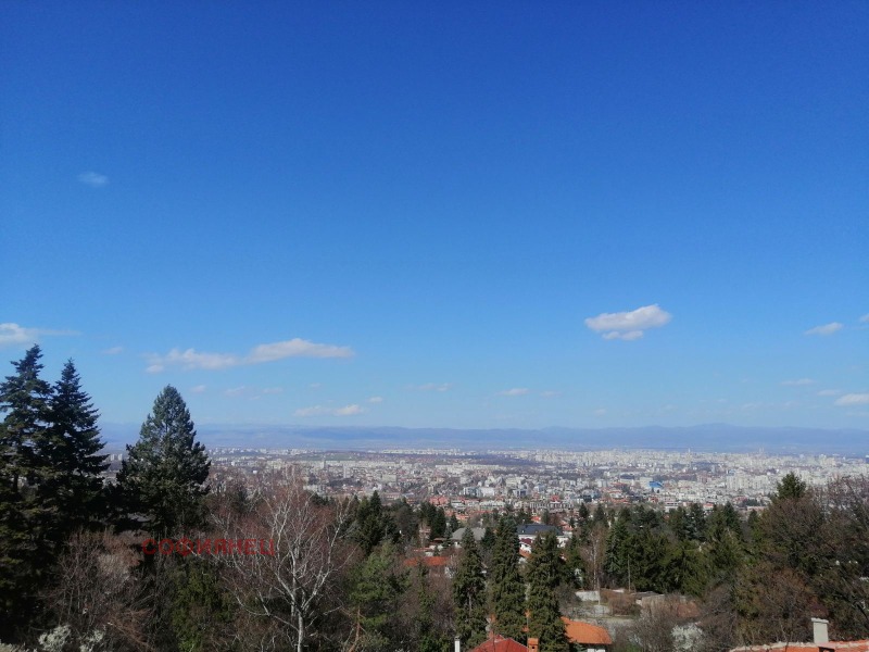
[[[138,426],[103,424],[109,448],[123,449],[138,437]],[[398,427],[310,427],[204,425],[198,428],[207,447],[301,448],[320,450],[559,449],[612,448],[707,452],[869,454],[869,430],[823,428],[755,428],[728,424],[638,428],[452,429]]]

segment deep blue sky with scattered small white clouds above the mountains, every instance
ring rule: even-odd
[[[105,422],[869,427],[865,2],[0,14],[0,353]]]

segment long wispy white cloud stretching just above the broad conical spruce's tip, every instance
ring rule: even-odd
[[[165,355],[149,354],[149,373],[159,373],[166,367],[175,366],[182,369],[225,369],[235,366],[263,364],[275,362],[285,358],[351,358],[353,350],[350,347],[335,344],[318,344],[308,340],[293,338],[282,342],[259,344],[250,350],[247,355],[235,353],[206,353],[196,349],[173,349]]]

